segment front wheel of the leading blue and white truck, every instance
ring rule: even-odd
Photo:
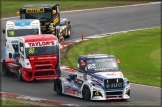
[[[83,99],[89,101],[91,98],[91,91],[87,85],[83,87],[82,90]]]

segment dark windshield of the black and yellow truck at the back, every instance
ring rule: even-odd
[[[51,13],[26,13],[25,19],[39,19],[40,21],[48,21],[51,19]]]

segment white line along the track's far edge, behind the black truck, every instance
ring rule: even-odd
[[[92,8],[92,9],[82,9],[82,10],[71,10],[71,11],[62,11],[60,13],[78,12],[78,11],[88,11],[88,10],[101,10],[101,9],[108,9],[108,8],[130,7],[130,6],[140,6],[140,5],[151,5],[151,4],[159,4],[159,3],[161,3],[161,2],[150,2],[150,3],[142,3],[142,4],[135,4],[135,5],[114,6],[114,7],[104,7],[104,8]],[[18,17],[19,16],[8,17],[8,18],[1,18],[0,20],[13,19],[13,18],[18,18]]]

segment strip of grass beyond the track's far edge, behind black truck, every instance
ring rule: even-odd
[[[1,0],[1,17],[16,16],[19,8],[26,4],[59,4],[60,11],[130,5],[160,0]]]

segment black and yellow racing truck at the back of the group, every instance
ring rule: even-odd
[[[42,34],[54,34],[61,40],[71,35],[70,20],[60,18],[59,4],[29,4],[19,9],[20,19],[39,19]]]

